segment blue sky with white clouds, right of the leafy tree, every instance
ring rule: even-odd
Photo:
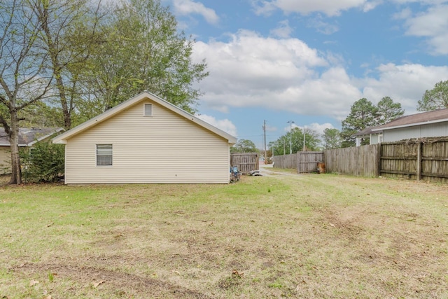
[[[298,127],[341,129],[365,97],[416,112],[448,80],[448,0],[162,0],[210,75],[196,87],[212,125],[262,146]]]

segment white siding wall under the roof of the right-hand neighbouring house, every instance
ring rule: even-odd
[[[448,123],[433,123],[429,125],[417,125],[414,127],[402,127],[397,129],[384,130],[385,142],[412,138],[445,136],[448,136]]]

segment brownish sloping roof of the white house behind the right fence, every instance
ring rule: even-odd
[[[391,130],[398,127],[412,127],[414,125],[427,125],[430,123],[442,123],[448,121],[448,109],[412,114],[395,118],[390,123],[374,127],[373,131]]]

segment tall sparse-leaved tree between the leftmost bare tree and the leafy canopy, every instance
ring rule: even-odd
[[[62,107],[64,127],[72,126],[71,115],[76,99],[82,96],[78,71],[98,46],[97,25],[101,1],[92,6],[90,0],[29,0],[34,4],[36,20],[41,24],[41,39],[50,56],[50,71]]]

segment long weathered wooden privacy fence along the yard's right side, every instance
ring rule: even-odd
[[[307,153],[309,155],[306,155]],[[300,152],[276,156],[273,160],[275,167],[297,169],[297,172],[314,172],[314,167],[320,160],[316,158],[317,154],[318,152]],[[325,150],[322,160],[325,162],[326,172],[448,183],[448,138],[426,138]]]

